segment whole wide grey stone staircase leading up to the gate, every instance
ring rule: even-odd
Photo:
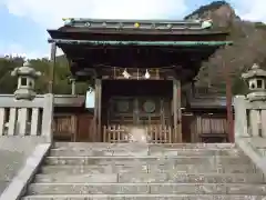
[[[266,200],[234,144],[55,143],[22,200]]]

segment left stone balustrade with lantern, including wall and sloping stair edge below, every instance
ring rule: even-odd
[[[52,141],[53,94],[34,91],[41,73],[25,62],[11,74],[17,90],[0,97],[0,200],[18,199]]]

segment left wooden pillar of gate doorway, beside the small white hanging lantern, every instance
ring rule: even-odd
[[[101,113],[102,113],[102,80],[96,79],[95,80],[95,106],[94,106],[94,136],[96,139],[96,142],[100,142],[102,140],[102,124],[101,124]]]

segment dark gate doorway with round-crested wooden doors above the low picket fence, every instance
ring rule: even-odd
[[[104,80],[102,122],[121,126],[171,126],[173,81]]]

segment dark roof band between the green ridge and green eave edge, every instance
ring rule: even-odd
[[[225,31],[185,31],[185,30],[103,30],[88,28],[63,28],[61,30],[48,30],[53,39],[80,39],[80,40],[167,40],[167,41],[215,41],[225,40],[228,32]]]

